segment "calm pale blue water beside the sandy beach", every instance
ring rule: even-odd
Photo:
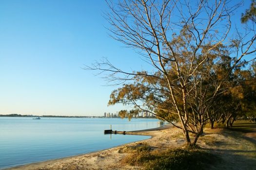
[[[0,117],[0,169],[89,153],[150,136],[104,135],[105,129],[132,131],[160,126],[158,119]]]

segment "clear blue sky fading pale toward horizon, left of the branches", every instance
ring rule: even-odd
[[[125,70],[144,67],[139,54],[108,35],[107,10],[104,0],[0,0],[0,114],[124,109],[107,106],[117,86],[82,69],[102,57]]]

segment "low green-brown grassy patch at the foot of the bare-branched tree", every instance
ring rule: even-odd
[[[204,170],[219,158],[202,149],[167,149],[152,150],[148,145],[125,148],[129,153],[121,162],[132,166],[144,167],[145,170]]]

